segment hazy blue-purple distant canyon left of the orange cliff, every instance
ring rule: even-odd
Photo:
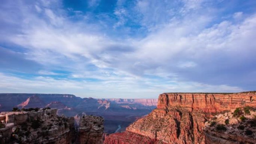
[[[71,94],[0,94],[0,112],[18,108],[57,108],[58,115],[73,117],[102,116],[104,132],[114,133],[125,128],[156,108],[158,99],[95,99]],[[121,128],[120,128],[121,127]]]

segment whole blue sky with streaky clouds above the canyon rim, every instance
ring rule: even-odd
[[[255,90],[255,0],[1,0],[0,93]]]

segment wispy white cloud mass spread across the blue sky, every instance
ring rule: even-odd
[[[33,87],[31,92],[43,92],[55,88],[58,92],[77,91],[80,96],[83,93],[116,95],[115,92],[124,92],[125,96],[156,96],[167,91],[243,91],[227,73],[239,71],[247,63],[253,64],[256,15],[245,17],[238,12],[234,18],[240,21],[216,22],[215,11],[202,6],[201,0],[183,1],[180,9],[167,1],[137,2],[135,9],[142,15],[140,24],[148,30],[140,39],[116,38],[105,33],[101,24],[74,22],[65,12],[47,3],[42,6],[43,17],[29,8],[22,9],[21,18],[15,21],[22,31],[8,33],[1,40],[25,48],[27,59],[48,66],[47,71],[39,71],[41,75],[55,75],[51,70],[56,68],[71,74],[66,79],[43,76],[31,80],[1,74],[1,91],[4,92],[4,85],[9,91],[25,92]],[[40,9],[36,5],[35,10],[41,12]],[[112,14],[119,18],[113,24],[115,29],[125,24],[129,11],[118,7]],[[4,22],[14,23],[12,19]],[[88,65],[93,65],[95,70]],[[234,74],[239,79],[246,73]],[[7,79],[17,83],[11,84]],[[214,79],[219,82],[212,82]],[[26,85],[19,86],[21,83]]]

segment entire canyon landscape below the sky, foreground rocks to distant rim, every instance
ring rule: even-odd
[[[256,143],[256,91],[163,93],[158,99],[94,99],[57,94],[31,94],[25,99],[24,94],[20,95],[24,99],[13,103],[21,111],[1,113],[0,120],[5,125],[0,128],[1,143]],[[74,103],[76,99],[80,101],[71,104],[73,99]],[[7,108],[6,103],[11,104],[1,102],[1,107]],[[36,105],[44,108],[28,111]],[[40,122],[36,129],[35,120]]]

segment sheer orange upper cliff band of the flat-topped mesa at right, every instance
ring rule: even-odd
[[[255,106],[256,91],[240,93],[164,93],[158,98],[158,109],[170,106],[202,110],[209,113],[231,110],[237,107]]]

